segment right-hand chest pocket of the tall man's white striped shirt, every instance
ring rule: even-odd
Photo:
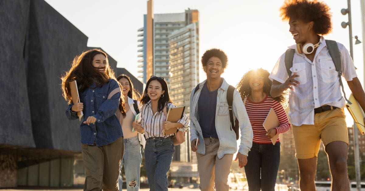
[[[323,82],[330,83],[335,81],[338,72],[332,58],[319,59],[319,67]]]

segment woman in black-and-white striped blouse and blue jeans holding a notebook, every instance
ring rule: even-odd
[[[151,76],[147,81],[141,99],[141,113],[138,123],[132,126],[139,133],[145,133],[145,163],[150,191],[167,191],[167,172],[170,169],[174,144],[172,135],[163,135],[162,130],[177,127],[185,131],[189,126],[186,114],[176,123],[166,121],[166,111],[176,107],[170,99],[169,89],[162,77]]]

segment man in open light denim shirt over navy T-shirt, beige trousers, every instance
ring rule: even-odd
[[[191,150],[196,151],[199,188],[204,191],[229,190],[228,175],[233,154],[237,151],[236,134],[231,127],[227,103],[230,85],[220,77],[227,61],[227,55],[222,50],[207,50],[201,57],[207,80],[198,84],[190,95]],[[238,118],[241,130],[241,143],[235,160],[238,159],[239,167],[242,168],[247,163],[253,133],[237,90],[233,92],[232,110],[233,118]]]

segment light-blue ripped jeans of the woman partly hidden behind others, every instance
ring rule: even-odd
[[[124,156],[119,168],[119,191],[122,191],[122,166],[126,173],[127,191],[139,190],[139,173],[141,171],[142,154],[138,136],[124,139]]]

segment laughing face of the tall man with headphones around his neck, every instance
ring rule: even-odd
[[[292,33],[296,44],[304,45],[311,39],[313,24],[313,21],[306,23],[298,19],[289,19],[289,32]]]

